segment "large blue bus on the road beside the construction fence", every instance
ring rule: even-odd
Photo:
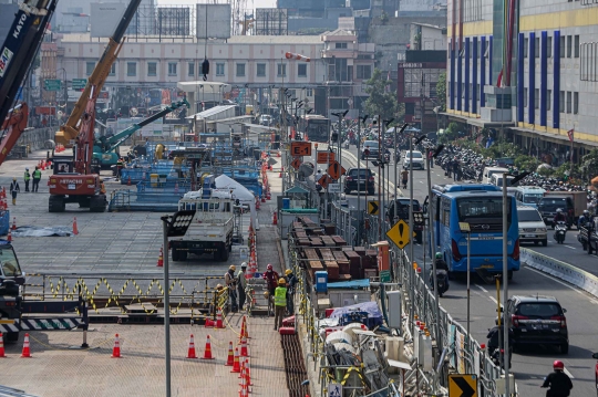
[[[430,217],[439,251],[451,272],[467,271],[467,233],[460,222],[470,223],[471,271],[503,272],[503,192],[493,185],[435,185]],[[519,228],[515,197],[508,196],[507,213],[508,278],[518,271]]]

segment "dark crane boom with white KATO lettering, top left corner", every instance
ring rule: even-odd
[[[24,0],[0,48],[0,121],[3,121],[29,73],[58,0]]]

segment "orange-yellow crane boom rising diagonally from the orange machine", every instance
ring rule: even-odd
[[[97,93],[102,91],[102,86],[106,82],[110,70],[112,69],[112,64],[116,60],[116,56],[118,56],[121,48],[123,46],[123,35],[126,31],[126,28],[128,28],[128,23],[135,14],[140,2],[141,0],[131,0],[131,2],[128,3],[128,7],[126,8],[121,21],[118,22],[116,30],[114,31],[114,34],[112,35],[112,38],[110,38],[110,41],[104,49],[102,58],[95,65],[93,73],[87,79],[85,90],[83,90],[83,93],[81,93],[81,97],[79,98],[73,111],[71,112],[69,119],[64,125],[60,127],[60,130],[56,132],[56,134],[54,135],[54,140],[56,142],[56,144],[62,144],[64,145],[64,147],[73,146],[74,139],[79,135],[79,124],[85,111],[87,98],[90,97],[90,91],[92,86],[95,86]]]

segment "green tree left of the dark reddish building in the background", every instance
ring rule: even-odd
[[[374,69],[372,77],[365,81],[365,93],[370,97],[363,104],[364,113],[370,116],[380,115],[382,119],[398,119],[400,112],[396,95],[392,88],[386,92],[386,86],[390,84],[392,82],[389,82],[379,69]]]

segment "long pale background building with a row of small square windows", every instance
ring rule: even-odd
[[[64,67],[68,81],[86,77],[105,43],[89,34],[65,34],[58,45],[56,67]],[[287,52],[308,56],[310,62],[288,60]],[[373,44],[358,44],[354,34],[340,30],[322,35],[237,35],[207,44],[193,38],[158,41],[140,35],[127,39],[105,86],[113,94],[126,90],[133,93],[128,97],[143,101],[151,88],[174,91],[179,82],[202,80],[202,62],[207,59],[208,83],[198,87],[209,81],[226,83],[225,90],[235,93],[249,90],[252,101],[260,104],[274,100],[274,95],[266,95],[276,92],[272,87],[286,87],[295,97],[307,98],[315,114],[326,115],[357,109],[367,98],[362,84],[371,76],[373,58]],[[198,92],[198,102],[199,90],[192,90]],[[220,92],[220,98],[224,94]]]

